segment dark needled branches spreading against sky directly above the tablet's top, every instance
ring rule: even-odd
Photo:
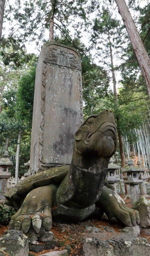
[[[87,14],[95,8],[96,1],[91,4],[87,0],[30,0],[22,4],[11,4],[5,8],[5,18],[15,21],[10,23],[11,34],[15,34],[22,41],[45,41],[45,30],[49,30],[50,18],[54,16],[54,30],[70,40],[70,26],[73,33],[79,34],[83,22],[87,22]]]

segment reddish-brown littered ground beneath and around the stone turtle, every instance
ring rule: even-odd
[[[126,199],[125,203],[128,207],[131,207],[130,199]],[[119,230],[124,227],[123,225],[112,224],[106,218],[106,216],[103,217],[102,219],[86,219],[84,221],[80,221],[77,223],[70,223],[70,224],[63,223],[63,222],[53,222],[51,231],[53,232],[54,237],[58,239],[57,245],[55,246],[54,249],[63,250],[66,244],[68,244],[71,247],[70,255],[83,256],[81,239],[82,239],[82,236],[88,232],[88,231],[85,231],[86,226],[95,226],[100,229],[102,229],[101,226],[109,226],[109,227],[112,227],[115,232],[119,232]],[[7,230],[7,226],[1,225],[0,235],[2,235],[6,230]],[[150,242],[150,229],[141,228],[139,236],[147,238],[147,240]],[[48,249],[38,253],[30,251],[30,253],[37,256],[49,251],[50,250]]]

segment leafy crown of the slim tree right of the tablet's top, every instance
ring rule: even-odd
[[[98,11],[93,20],[91,30],[90,43],[92,47],[96,48],[95,57],[98,59],[99,64],[105,68],[109,77],[112,76],[112,65],[110,61],[110,51],[115,60],[118,54],[123,52],[123,30],[120,27],[120,21],[114,16],[110,6],[102,5],[101,10]],[[116,62],[116,61],[115,61]],[[120,64],[120,59],[115,64],[115,70]]]

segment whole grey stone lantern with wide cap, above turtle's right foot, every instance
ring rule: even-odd
[[[130,199],[132,207],[134,202],[139,199],[138,184],[143,182],[142,179],[139,179],[139,176],[141,175],[143,168],[141,166],[133,166],[132,160],[128,160],[127,164],[128,167],[124,168],[122,172],[127,173],[127,179],[124,180],[124,183],[128,184],[130,187]]]

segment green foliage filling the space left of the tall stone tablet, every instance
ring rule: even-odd
[[[16,41],[15,41],[16,42]],[[8,47],[10,50],[10,62],[8,65],[2,64],[1,71],[1,88],[3,90],[1,95],[0,112],[0,155],[2,156],[5,148],[6,138],[9,138],[9,155],[13,159],[13,167],[10,172],[14,171],[15,166],[15,152],[17,146],[18,132],[21,131],[20,142],[20,159],[19,159],[19,178],[27,171],[24,162],[29,159],[30,152],[30,136],[31,136],[31,122],[32,109],[34,97],[34,81],[35,68],[37,56],[28,55],[13,55],[14,49]],[[7,52],[7,48],[3,51]],[[11,56],[13,56],[11,58]],[[20,58],[19,67],[16,67],[16,59]],[[9,59],[9,56],[8,56]],[[24,61],[24,62],[23,62]],[[28,61],[28,62],[26,62]],[[6,76],[3,70],[6,70]],[[6,79],[5,79],[6,77]],[[5,82],[5,80],[7,82]]]

